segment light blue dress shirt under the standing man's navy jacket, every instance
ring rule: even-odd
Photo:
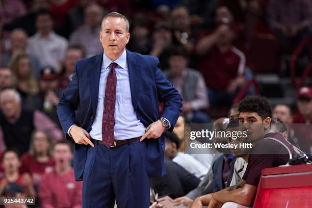
[[[145,127],[137,118],[136,112],[132,105],[127,55],[125,50],[115,61],[109,59],[105,53],[103,53],[96,116],[91,126],[90,137],[96,140],[102,140],[102,117],[105,100],[105,88],[107,77],[110,72],[110,64],[112,62],[117,64],[115,68],[117,76],[114,126],[115,140],[140,137],[145,134]]]

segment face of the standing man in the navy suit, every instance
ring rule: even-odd
[[[123,18],[108,17],[103,22],[100,41],[105,54],[112,60],[118,59],[129,42],[130,34],[126,32]]]

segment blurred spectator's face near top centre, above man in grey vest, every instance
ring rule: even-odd
[[[174,30],[185,32],[190,27],[190,15],[186,8],[174,9],[171,13],[171,19]]]

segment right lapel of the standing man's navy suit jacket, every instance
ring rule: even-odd
[[[137,60],[137,57],[128,50],[126,50],[126,53],[127,53],[127,64],[128,64],[128,72],[129,72],[132,105],[133,105],[134,110],[136,111],[137,106],[138,106],[138,95],[139,95],[139,89],[140,89],[141,73],[140,73],[139,62]]]

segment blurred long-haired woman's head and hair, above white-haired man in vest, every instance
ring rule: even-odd
[[[17,90],[23,99],[38,93],[38,83],[33,76],[31,59],[27,54],[15,54],[10,61],[9,68],[15,74]]]

